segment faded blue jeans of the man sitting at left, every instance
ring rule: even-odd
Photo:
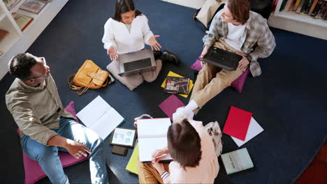
[[[108,183],[103,141],[96,132],[70,118],[62,117],[59,121],[59,129],[52,130],[62,137],[85,144],[91,151],[89,169],[92,183]],[[45,146],[27,135],[24,135],[20,141],[24,153],[32,160],[38,161],[51,183],[66,182],[66,175],[58,156],[58,151],[67,152],[66,148]]]

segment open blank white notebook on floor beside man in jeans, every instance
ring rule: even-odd
[[[106,139],[112,130],[125,121],[124,118],[99,95],[78,112],[76,116],[80,118],[87,128],[98,133],[101,139]]]

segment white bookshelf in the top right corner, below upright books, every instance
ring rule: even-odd
[[[279,11],[281,5],[282,0],[279,0],[275,12],[268,19],[270,26],[327,40],[327,21],[314,19],[309,15],[287,12],[286,7],[283,11]]]

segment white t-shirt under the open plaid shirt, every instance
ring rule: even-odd
[[[241,24],[239,26],[234,26],[233,24],[227,22],[228,26],[228,35],[224,41],[231,45],[235,50],[240,51],[240,47],[242,46],[240,43],[240,38],[245,31],[245,24]]]

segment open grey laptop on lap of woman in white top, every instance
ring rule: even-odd
[[[142,49],[137,52],[130,52],[127,54],[120,54],[119,61],[119,75],[127,76],[134,75],[139,72],[148,72],[156,70],[156,61],[152,49]]]

